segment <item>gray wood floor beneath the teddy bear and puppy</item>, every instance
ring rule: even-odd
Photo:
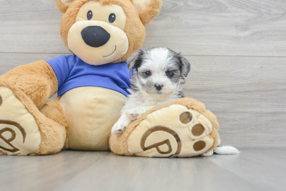
[[[72,150],[46,156],[0,155],[0,182],[1,191],[285,190],[285,156],[285,148],[193,158]]]

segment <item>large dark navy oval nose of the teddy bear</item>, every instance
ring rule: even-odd
[[[103,46],[109,41],[110,34],[100,26],[88,26],[81,31],[83,41],[91,47]]]

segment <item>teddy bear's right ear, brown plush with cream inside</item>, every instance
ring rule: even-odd
[[[153,20],[161,10],[161,0],[132,0],[132,4],[139,12],[141,22],[148,24]]]

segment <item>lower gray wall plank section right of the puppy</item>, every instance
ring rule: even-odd
[[[186,97],[203,102],[224,144],[286,146],[286,58],[186,56]]]

